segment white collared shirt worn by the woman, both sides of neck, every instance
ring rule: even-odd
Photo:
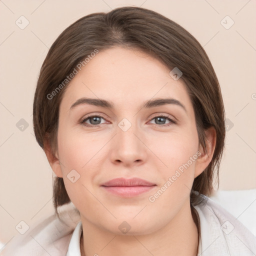
[[[200,219],[197,256],[255,256],[256,237],[233,215],[210,198],[194,206]],[[48,218],[26,235],[10,241],[1,256],[80,256],[82,225],[72,203],[61,206],[61,223]]]

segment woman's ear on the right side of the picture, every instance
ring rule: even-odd
[[[215,145],[216,145],[216,130],[213,126],[209,127],[208,129],[204,130],[205,133],[205,146],[206,151],[203,148],[203,146],[199,145],[199,151],[200,155],[198,156],[196,163],[195,163],[195,172],[194,177],[197,177],[199,174],[201,174],[205,168],[209,165]]]

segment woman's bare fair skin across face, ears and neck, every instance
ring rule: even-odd
[[[80,212],[84,230],[81,255],[197,254],[189,193],[193,179],[212,158],[216,135],[213,128],[205,131],[206,154],[198,143],[185,85],[181,78],[174,80],[169,71],[140,50],[114,47],[97,53],[64,92],[57,149],[51,152],[46,146],[45,153]],[[82,97],[109,100],[114,107],[78,104],[70,109]],[[167,97],[179,100],[186,110],[177,104],[141,108],[146,100]],[[103,118],[94,122],[86,119],[97,114]],[[175,123],[155,118],[162,114]],[[123,118],[131,124],[126,131],[118,126]],[[82,123],[84,119],[90,126]],[[148,197],[198,150],[200,156],[154,202],[149,201]],[[67,178],[72,169],[80,175],[74,183]],[[156,185],[148,192],[124,198],[100,186],[116,177],[139,177]],[[126,234],[118,228],[123,221],[130,226]]]

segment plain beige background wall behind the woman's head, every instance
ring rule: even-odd
[[[57,35],[92,12],[136,5],[187,29],[204,47],[218,76],[226,111],[226,148],[220,189],[256,188],[255,0],[3,0],[0,1],[0,240],[53,212],[52,171],[32,129],[39,69]],[[23,15],[29,24],[20,29]],[[221,20],[226,16],[230,19]],[[24,18],[22,24],[25,24]],[[223,24],[226,23],[226,24]],[[222,25],[223,24],[223,25]],[[28,127],[16,123],[23,118]],[[232,126],[232,127],[231,127]]]

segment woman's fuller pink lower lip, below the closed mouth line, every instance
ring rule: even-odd
[[[152,186],[102,186],[105,190],[118,196],[132,197],[151,190]]]

